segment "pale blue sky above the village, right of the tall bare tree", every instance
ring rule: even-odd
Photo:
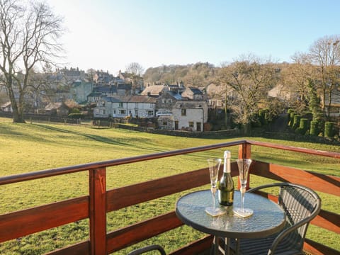
[[[338,0],[46,0],[64,17],[68,67],[117,74],[131,62],[210,62],[253,53],[290,62],[340,34]]]

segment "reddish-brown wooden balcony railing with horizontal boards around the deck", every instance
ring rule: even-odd
[[[79,171],[89,171],[89,196],[72,198],[57,203],[41,205],[35,208],[28,208],[26,210],[0,215],[0,243],[88,218],[88,240],[56,251],[51,251],[49,254],[101,255],[111,254],[114,251],[119,251],[132,244],[136,244],[142,240],[154,237],[157,234],[179,227],[183,224],[179,221],[173,211],[158,215],[149,220],[138,222],[134,225],[114,230],[113,232],[107,232],[106,214],[107,212],[113,212],[130,205],[136,205],[148,200],[162,198],[174,193],[186,191],[190,188],[208,184],[209,178],[207,169],[198,169],[183,174],[177,174],[175,176],[167,176],[153,181],[133,184],[132,186],[107,190],[106,168],[108,166],[118,166],[121,164],[131,164],[151,159],[174,157],[181,154],[203,152],[235,145],[239,146],[239,158],[251,158],[251,147],[260,146],[340,159],[340,153],[336,152],[323,152],[313,149],[274,145],[266,142],[239,140],[217,145],[179,149],[170,152],[147,154],[106,162],[96,162],[93,164],[36,171],[15,176],[4,176],[0,178],[0,185],[42,179]],[[251,166],[250,173],[251,176],[256,175],[266,177],[272,179],[273,182],[289,181],[299,183],[308,186],[315,191],[328,193],[338,197],[340,196],[340,178],[336,176],[302,171],[288,166],[256,161],[256,159]],[[237,166],[235,163],[232,163],[232,176],[237,176]],[[174,185],[174,183],[176,183],[176,185]],[[275,200],[275,198],[272,198],[271,196],[268,196],[268,198]],[[327,210],[321,210],[319,216],[312,221],[312,224],[334,232],[334,238],[339,238],[340,220],[338,214]],[[180,249],[172,251],[171,254],[197,254],[200,251],[208,249],[211,242],[212,237],[203,237],[196,242],[192,242]],[[340,254],[339,251],[310,239],[306,239],[304,249],[311,254]]]

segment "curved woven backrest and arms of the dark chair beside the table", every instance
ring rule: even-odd
[[[275,251],[278,244],[285,244],[286,249],[301,251],[310,221],[319,214],[321,199],[312,189],[294,183],[273,183],[256,188],[280,187],[278,204],[285,210],[286,226],[272,244],[271,251]]]

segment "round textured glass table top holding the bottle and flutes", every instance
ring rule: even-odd
[[[179,198],[176,203],[176,214],[179,219],[207,234],[219,237],[259,238],[274,234],[285,226],[285,212],[273,201],[254,193],[245,193],[244,208],[251,208],[254,214],[242,218],[234,215],[233,207],[240,207],[241,195],[234,192],[234,205],[222,206],[217,201],[215,205],[227,210],[224,215],[212,217],[205,212],[211,206],[212,195],[210,190],[188,193]]]

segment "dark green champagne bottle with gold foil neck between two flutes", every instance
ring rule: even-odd
[[[232,205],[234,202],[234,181],[232,180],[230,159],[231,154],[225,151],[225,164],[223,165],[223,175],[218,186],[218,201],[220,205]]]

